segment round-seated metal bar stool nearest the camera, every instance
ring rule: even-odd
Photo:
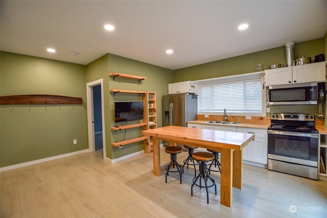
[[[215,157],[212,153],[208,153],[208,152],[196,152],[193,154],[193,159],[199,162],[199,175],[196,176],[193,179],[193,184],[191,186],[191,196],[193,196],[193,186],[196,185],[200,188],[205,188],[206,190],[206,202],[207,204],[209,204],[209,193],[208,193],[208,188],[215,186],[215,195],[217,195],[217,186],[215,183],[215,180],[213,178],[211,178],[211,176],[207,173],[207,169],[206,169],[206,162],[213,160]],[[197,184],[197,180],[199,180],[199,184]],[[204,186],[201,185],[201,180],[204,180]],[[213,184],[208,185],[207,184],[207,180],[209,179],[209,181],[211,181]]]

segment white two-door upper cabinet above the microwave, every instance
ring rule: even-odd
[[[265,70],[265,86],[325,81],[325,61]]]

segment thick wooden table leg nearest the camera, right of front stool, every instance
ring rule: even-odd
[[[221,174],[220,174],[220,203],[231,207],[231,193],[232,193],[232,150],[221,150]]]

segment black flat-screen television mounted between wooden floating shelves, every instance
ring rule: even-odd
[[[143,119],[143,102],[115,102],[114,122]]]

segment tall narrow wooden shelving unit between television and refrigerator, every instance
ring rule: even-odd
[[[156,129],[157,128],[157,102],[156,102],[156,93],[148,91],[146,98],[144,99],[144,105],[146,104],[147,109],[144,108],[144,117],[147,117],[148,126],[144,128]],[[148,136],[147,140],[144,142],[145,153],[151,154],[153,150],[153,142],[151,136]]]

